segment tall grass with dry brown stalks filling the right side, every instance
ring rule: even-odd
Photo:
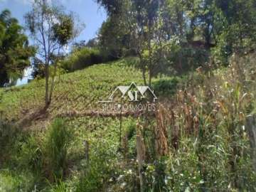
[[[246,115],[256,107],[255,60],[234,55],[226,70],[198,72],[159,110],[169,132],[170,190],[255,191],[243,129]]]

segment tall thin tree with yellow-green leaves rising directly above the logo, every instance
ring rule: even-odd
[[[132,46],[139,56],[144,84],[166,68],[173,32],[166,1],[130,1],[125,21],[132,31]]]

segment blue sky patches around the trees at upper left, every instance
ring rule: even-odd
[[[11,16],[18,19],[21,25],[25,24],[24,14],[31,10],[31,2],[33,0],[0,0],[0,11],[9,9]],[[80,33],[80,36],[75,39],[76,42],[88,41],[97,35],[103,21],[105,21],[107,15],[103,9],[101,9],[95,0],[48,0],[54,2],[60,2],[67,11],[73,11],[79,16],[80,21],[85,23],[85,29]],[[18,80],[17,85],[23,85],[28,82],[31,68],[28,68],[24,72],[24,78]]]

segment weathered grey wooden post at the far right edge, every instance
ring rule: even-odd
[[[256,171],[256,114],[246,118],[245,128],[250,139],[252,166],[254,171]]]

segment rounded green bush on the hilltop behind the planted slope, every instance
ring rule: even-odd
[[[102,62],[103,56],[100,53],[100,50],[97,50],[96,48],[85,47],[80,50],[75,50],[73,53],[71,53],[68,58],[63,60],[61,67],[68,72],[72,72]]]

